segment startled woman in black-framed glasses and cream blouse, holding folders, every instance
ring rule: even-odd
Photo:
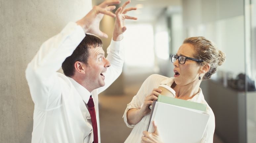
[[[125,143],[161,142],[157,131],[147,132],[149,106],[153,100],[157,100],[161,92],[157,88],[160,84],[166,84],[173,88],[176,92],[175,98],[206,104],[206,113],[210,117],[201,142],[212,143],[215,118],[212,109],[204,100],[199,86],[202,80],[208,80],[216,72],[217,66],[222,65],[224,60],[225,54],[205,37],[185,39],[177,54],[171,57],[174,65],[174,77],[168,78],[157,74],[149,76],[137,95],[127,105],[123,118],[126,125],[133,130]]]

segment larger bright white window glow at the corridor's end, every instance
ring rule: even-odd
[[[154,66],[154,39],[151,24],[126,24],[122,46],[125,48],[125,65],[130,67]]]

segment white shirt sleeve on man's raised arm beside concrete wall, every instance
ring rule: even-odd
[[[56,99],[61,96],[62,87],[56,71],[61,68],[63,61],[73,53],[84,37],[82,27],[70,22],[59,34],[41,45],[25,71],[30,94],[36,107],[47,109],[51,102],[50,97]]]

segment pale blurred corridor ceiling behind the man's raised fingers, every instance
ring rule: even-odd
[[[104,0],[93,0],[93,3],[99,4]],[[136,11],[131,11],[127,15],[138,17],[138,22],[152,22],[163,11],[167,10],[169,14],[175,12],[181,12],[182,0],[131,0],[129,7],[136,7],[138,4],[142,4],[142,8],[138,8]],[[121,0],[121,5],[125,0]],[[129,21],[127,21],[129,22]]]

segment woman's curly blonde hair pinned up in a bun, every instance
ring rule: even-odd
[[[203,76],[202,80],[210,79],[211,75],[216,73],[217,66],[222,65],[225,61],[225,53],[218,50],[216,46],[205,37],[189,37],[183,41],[183,44],[192,44],[195,48],[197,55],[194,55],[196,59],[203,60],[198,64],[210,64],[210,70]]]

